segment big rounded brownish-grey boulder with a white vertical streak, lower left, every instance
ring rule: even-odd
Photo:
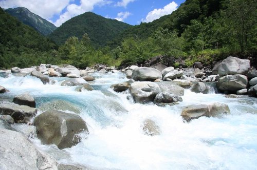
[[[38,138],[44,144],[56,144],[58,148],[71,147],[80,141],[79,133],[87,132],[86,122],[75,114],[46,111],[34,119]]]

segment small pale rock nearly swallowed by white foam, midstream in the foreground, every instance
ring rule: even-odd
[[[146,119],[143,122],[143,131],[145,135],[149,136],[160,135],[159,126],[153,120],[150,119]]]

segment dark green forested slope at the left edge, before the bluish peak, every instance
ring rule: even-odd
[[[0,68],[50,63],[54,58],[47,54],[54,49],[57,46],[49,38],[0,8]]]

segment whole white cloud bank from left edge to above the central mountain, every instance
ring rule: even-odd
[[[25,7],[58,27],[71,17],[92,11],[96,5],[111,3],[109,0],[80,0],[79,5],[74,4],[74,0],[0,0],[2,8]],[[62,13],[65,8],[66,11]],[[56,22],[51,20],[54,15],[60,15]]]

